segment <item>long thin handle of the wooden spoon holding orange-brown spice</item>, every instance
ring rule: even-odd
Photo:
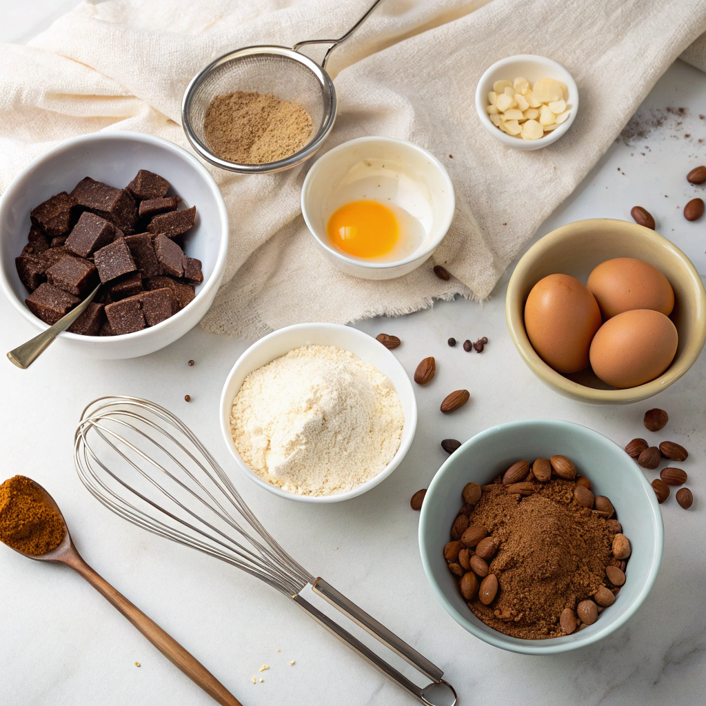
[[[198,662],[196,657],[193,657],[193,654],[186,652],[177,640],[165,633],[155,621],[148,618],[137,606],[128,601],[123,594],[116,591],[100,574],[88,566],[78,553],[72,552],[69,556],[63,558],[62,561],[85,578],[97,592],[102,594],[133,626],[140,630],[140,633],[145,635],[145,638],[150,640],[152,645],[155,645],[157,650],[169,659],[169,662],[181,669],[191,681],[197,683],[211,698],[220,703],[221,706],[242,706],[241,702],[201,662]]]

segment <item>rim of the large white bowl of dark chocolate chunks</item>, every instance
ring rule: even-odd
[[[71,333],[70,331],[62,331],[61,333],[59,333],[60,338],[65,338],[67,340],[88,342],[92,345],[111,346],[121,345],[121,342],[124,342],[128,339],[131,341],[136,341],[140,338],[159,335],[160,331],[166,330],[169,326],[173,325],[174,323],[177,323],[177,321],[180,321],[182,318],[184,318],[184,316],[189,316],[190,312],[185,313],[187,312],[187,309],[189,309],[189,306],[191,306],[197,299],[205,299],[205,297],[208,297],[210,292],[220,285],[222,275],[225,271],[226,257],[228,254],[229,225],[228,211],[225,205],[223,195],[220,192],[220,189],[218,188],[215,179],[213,179],[213,177],[208,172],[208,169],[206,169],[203,164],[201,164],[201,162],[196,159],[196,157],[189,154],[189,152],[184,150],[184,148],[180,147],[179,145],[173,142],[169,142],[169,140],[165,140],[164,138],[157,137],[155,135],[150,135],[148,133],[138,133],[126,130],[110,130],[79,135],[73,138],[69,138],[68,140],[64,140],[58,145],[55,145],[53,148],[47,150],[46,152],[43,152],[38,157],[35,157],[32,162],[30,162],[24,169],[22,169],[21,172],[16,175],[16,177],[11,181],[10,185],[6,189],[5,193],[0,196],[0,222],[2,220],[2,214],[4,213],[4,210],[6,208],[9,208],[9,205],[12,203],[13,198],[15,196],[15,192],[20,189],[20,183],[23,182],[26,177],[28,177],[28,174],[33,172],[35,169],[37,169],[37,167],[40,166],[40,164],[47,160],[47,158],[54,157],[56,155],[61,155],[62,152],[68,152],[69,150],[75,148],[76,145],[83,145],[85,143],[92,142],[101,142],[105,140],[126,140],[138,143],[148,143],[150,145],[154,145],[157,148],[171,151],[174,152],[176,155],[179,155],[182,160],[190,164],[191,167],[195,169],[196,173],[201,177],[201,179],[203,179],[203,181],[205,181],[210,191],[213,193],[215,202],[217,204],[218,215],[220,218],[221,225],[220,246],[216,262],[213,267],[213,273],[211,273],[208,280],[205,280],[203,282],[201,289],[199,289],[199,291],[196,293],[196,297],[194,297],[193,301],[190,301],[189,304],[184,307],[184,309],[181,309],[181,311],[177,311],[174,316],[170,316],[168,319],[165,319],[164,321],[161,321],[160,323],[157,323],[154,326],[143,328],[140,331],[135,331],[133,333],[123,333],[121,335],[116,336],[85,336],[80,335],[78,333]],[[37,326],[37,328],[40,328],[41,330],[47,330],[49,328],[49,324],[44,323],[44,321],[42,321],[40,318],[37,318],[37,316],[35,316],[27,308],[24,301],[20,301],[20,299],[18,299],[16,293],[11,287],[10,282],[5,276],[4,267],[2,266],[4,263],[1,262],[1,258],[2,253],[0,251],[0,286],[3,289],[5,296],[10,300],[11,304],[15,307],[15,309],[25,317],[25,319],[27,319],[33,325]]]

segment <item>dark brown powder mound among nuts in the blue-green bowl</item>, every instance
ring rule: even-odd
[[[606,585],[615,534],[603,517],[573,499],[573,481],[534,485],[534,495],[521,497],[496,483],[470,513],[470,523],[484,527],[500,546],[490,562],[498,577],[496,599],[485,606],[476,598],[468,606],[505,635],[541,640],[563,635],[561,611],[575,610]]]

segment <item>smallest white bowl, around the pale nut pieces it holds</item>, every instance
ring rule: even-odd
[[[521,137],[504,133],[491,123],[485,111],[488,104],[488,94],[493,90],[493,83],[503,79],[512,81],[519,76],[526,78],[530,85],[533,85],[539,78],[554,78],[561,83],[566,83],[568,88],[569,100],[566,101],[566,104],[571,111],[570,115],[558,128],[546,133],[539,140],[523,140]],[[578,88],[573,76],[566,71],[566,68],[552,59],[547,59],[546,56],[537,56],[536,54],[508,56],[507,59],[496,61],[481,76],[476,87],[476,110],[486,130],[505,147],[524,152],[539,150],[556,142],[570,128],[578,112]]]

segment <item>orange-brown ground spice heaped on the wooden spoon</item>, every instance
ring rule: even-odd
[[[34,481],[14,476],[0,485],[0,541],[13,549],[39,556],[64,539],[64,522],[44,501]]]

